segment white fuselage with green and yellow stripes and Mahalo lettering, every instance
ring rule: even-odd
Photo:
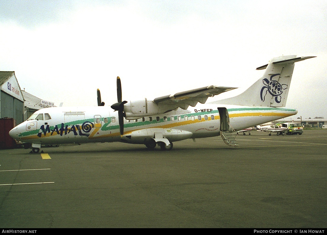
[[[199,104],[166,114],[144,116],[137,120],[124,118],[121,136],[118,112],[109,106],[53,107],[38,110],[43,120],[30,119],[13,128],[9,134],[22,142],[38,144],[115,142],[142,144],[162,133],[171,142],[218,136],[221,131],[218,108],[228,111],[229,131],[295,115],[296,109],[250,107],[238,105]]]

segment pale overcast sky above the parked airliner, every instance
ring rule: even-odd
[[[153,99],[199,87],[240,93],[280,55],[295,64],[286,107],[327,118],[327,1],[0,1],[0,71],[59,106]],[[238,90],[238,91],[237,91]],[[234,93],[233,93],[234,92]]]

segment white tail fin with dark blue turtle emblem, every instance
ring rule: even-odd
[[[266,69],[265,74],[242,94],[213,103],[246,106],[285,107],[294,63],[316,56],[296,55],[273,58],[268,64],[258,67]]]

